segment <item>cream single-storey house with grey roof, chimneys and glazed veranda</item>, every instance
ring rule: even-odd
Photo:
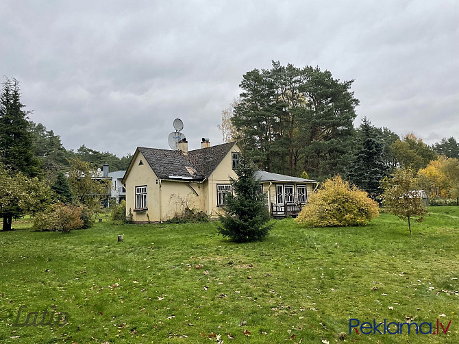
[[[192,151],[186,140],[178,150],[137,147],[122,180],[127,214],[132,212],[136,223],[162,222],[188,207],[216,217],[223,211],[226,195],[232,193],[229,177],[236,178],[240,151],[236,142],[210,146],[204,138],[201,149]],[[257,173],[261,173],[263,192],[268,193],[269,209],[277,215],[296,212],[315,185],[301,178]],[[284,195],[277,197],[276,192]]]

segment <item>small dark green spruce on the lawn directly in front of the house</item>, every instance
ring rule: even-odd
[[[260,195],[260,181],[253,177],[254,171],[252,162],[241,154],[236,168],[238,179],[230,178],[235,195],[227,194],[225,215],[219,215],[219,233],[238,243],[262,240],[273,227],[266,224],[269,212],[264,206],[265,195]]]

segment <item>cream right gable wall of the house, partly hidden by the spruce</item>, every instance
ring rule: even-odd
[[[234,147],[227,153],[225,158],[221,160],[218,167],[215,171],[209,176],[208,181],[205,182],[204,191],[206,197],[206,212],[211,217],[217,217],[218,214],[223,214],[221,207],[216,206],[216,184],[229,184],[229,177],[236,178],[236,173],[232,169],[232,152],[240,152],[238,145]]]

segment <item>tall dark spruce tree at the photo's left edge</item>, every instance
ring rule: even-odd
[[[27,177],[36,177],[40,162],[34,156],[28,112],[24,107],[19,82],[6,78],[0,94],[0,162],[10,173],[22,172]]]

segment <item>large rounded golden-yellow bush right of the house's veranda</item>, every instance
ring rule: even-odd
[[[339,175],[325,180],[308,202],[295,221],[311,227],[362,225],[380,214],[377,202],[368,193],[349,185]]]

